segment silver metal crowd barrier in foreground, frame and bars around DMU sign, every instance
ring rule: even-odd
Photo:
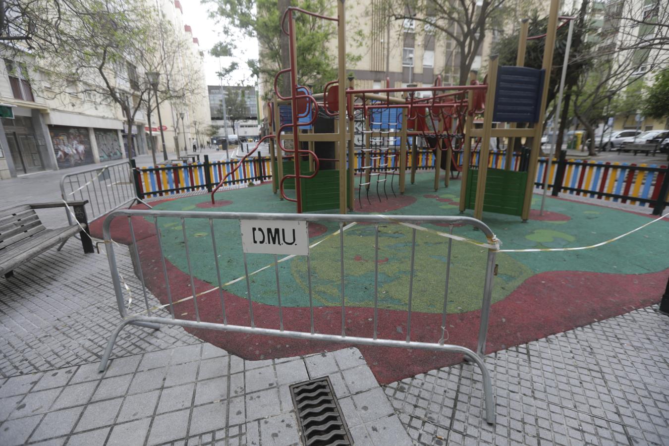
[[[128,219],[128,227],[130,228],[130,235],[132,240],[132,245],[130,247],[131,253],[136,259],[136,272],[138,278],[141,282],[142,294],[144,297],[144,303],[146,306],[145,312],[142,311],[141,314],[128,314],[128,308],[126,308],[124,300],[124,284],[122,277],[118,271],[116,265],[116,256],[114,254],[114,242],[110,234],[110,225],[112,220],[115,217],[125,217]],[[136,243],[136,237],[134,232],[134,226],[132,224],[132,217],[140,217],[145,219],[149,223],[153,223],[156,231],[156,242],[158,244],[158,252],[161,257],[160,265],[158,269],[161,269],[161,273],[165,279],[165,294],[163,296],[167,298],[167,306],[165,308],[169,309],[169,315],[161,316],[161,312],[155,311],[156,308],[151,308],[149,305],[149,300],[147,298],[147,284],[145,282],[145,271],[142,270],[142,265],[140,261],[139,251]],[[173,229],[181,229],[179,233],[183,237],[183,249],[187,265],[187,274],[189,276],[189,286],[190,292],[192,295],[185,298],[174,300],[172,292],[169,286],[169,277],[167,274],[167,265],[165,261],[165,253],[163,252],[163,235],[161,234],[161,228],[159,227],[159,219],[171,219],[171,227]],[[197,294],[195,289],[195,275],[193,274],[193,267],[191,263],[191,249],[189,249],[189,236],[187,235],[186,223],[191,220],[202,220],[205,219],[208,221],[209,234],[200,234],[199,237],[206,235],[211,236],[211,251],[209,253],[203,252],[203,246],[201,243],[198,245],[198,255],[199,256],[213,256],[213,262],[216,271],[217,277],[217,287],[213,290],[208,290],[207,292]],[[175,221],[176,220],[176,221]],[[244,279],[246,279],[246,300],[248,300],[248,316],[250,318],[250,326],[244,325],[235,325],[228,323],[228,317],[226,316],[225,308],[225,298],[223,296],[223,286],[229,284],[223,284],[221,281],[221,264],[225,265],[225,262],[219,262],[219,257],[225,258],[231,255],[237,255],[237,253],[224,253],[221,255],[217,247],[217,237],[215,233],[215,221],[239,221],[240,222],[240,232],[242,236],[242,255],[244,260]],[[332,237],[339,238],[339,261],[340,268],[339,273],[341,275],[339,282],[341,286],[341,300],[338,306],[341,307],[341,334],[325,334],[318,333],[314,330],[314,304],[312,299],[312,265],[311,265],[311,252],[308,245],[308,223],[313,222],[328,222],[328,223],[337,223],[339,225],[339,230],[334,233],[327,235],[325,239],[330,239]],[[179,223],[181,223],[181,228],[179,228]],[[191,222],[195,224],[194,222]],[[344,256],[344,240],[345,240],[345,228],[353,227],[351,223],[363,223],[367,225],[373,225],[374,227],[374,245],[373,249],[375,267],[374,267],[374,284],[373,284],[373,296],[370,296],[370,300],[373,299],[373,336],[363,337],[363,336],[351,336],[347,334],[346,326],[346,296],[347,292],[347,281],[345,275],[345,256]],[[383,235],[383,231],[379,231],[379,225],[383,224],[397,224],[402,227],[408,228],[411,231],[411,260],[409,265],[409,289],[408,289],[408,301],[406,309],[406,338],[405,340],[381,338],[379,336],[378,324],[379,324],[379,233]],[[444,241],[443,238],[440,238],[437,243],[444,243],[444,250],[446,251],[446,270],[444,271],[444,307],[442,312],[442,324],[440,326],[441,335],[438,338],[438,342],[418,342],[411,340],[411,315],[414,312],[412,308],[414,292],[413,292],[413,282],[415,275],[415,255],[416,255],[416,233],[418,229],[421,229],[421,224],[440,224],[448,225],[450,227],[449,234],[446,235],[447,240]],[[346,225],[346,226],[345,226]],[[452,253],[452,242],[454,239],[458,241],[456,236],[452,236],[452,231],[454,225],[466,225],[473,227],[475,229],[480,229],[481,233],[488,239],[489,242],[494,241],[494,245],[484,245],[487,246],[487,259],[486,259],[486,275],[483,284],[483,297],[482,297],[482,309],[481,309],[481,318],[479,323],[479,332],[478,332],[478,346],[477,352],[470,350],[464,346],[458,346],[454,344],[446,344],[446,314],[447,314],[447,302],[448,302],[448,284],[450,281],[451,274],[451,253]],[[266,233],[260,233],[260,228],[265,229]],[[286,228],[288,228],[288,233],[292,228],[292,243],[290,243],[290,237],[286,237]],[[259,229],[258,234],[256,234],[256,229]],[[272,235],[278,237],[278,231],[282,229],[283,232],[283,246],[281,243],[276,243],[276,239],[272,241]],[[203,328],[211,330],[223,330],[227,332],[240,332],[246,334],[262,334],[268,336],[280,336],[284,338],[295,338],[295,339],[306,339],[306,340],[322,340],[327,342],[339,342],[346,344],[359,344],[367,346],[387,346],[387,347],[399,347],[399,348],[415,348],[419,350],[436,350],[442,352],[452,352],[463,354],[468,360],[475,363],[481,370],[483,390],[484,390],[484,400],[485,400],[485,411],[486,411],[486,421],[488,423],[494,423],[495,413],[494,413],[494,395],[492,392],[492,383],[490,380],[490,373],[488,372],[482,357],[485,351],[486,345],[486,336],[488,332],[488,319],[490,315],[490,303],[492,298],[492,281],[494,278],[494,269],[495,269],[495,255],[496,255],[496,237],[490,228],[485,225],[482,221],[471,217],[442,217],[442,216],[406,216],[406,215],[336,215],[336,214],[278,214],[278,213],[220,213],[220,212],[187,212],[187,211],[143,211],[143,210],[130,210],[130,209],[119,209],[113,211],[106,217],[103,225],[104,231],[104,241],[106,244],[107,257],[110,265],[110,271],[112,275],[112,282],[114,285],[114,292],[116,294],[116,302],[118,305],[118,311],[123,320],[118,324],[116,330],[110,336],[104,354],[102,356],[102,361],[100,362],[100,371],[105,370],[107,362],[109,360],[112,348],[116,337],[126,326],[127,324],[134,324],[138,326],[145,326],[148,328],[159,328],[161,324],[190,327],[190,328]],[[300,232],[302,231],[302,232]],[[262,235],[262,241],[261,240]],[[442,235],[444,235],[442,233]],[[450,238],[450,237],[454,238]],[[146,239],[144,239],[146,241]],[[201,240],[201,239],[200,239]],[[272,243],[270,243],[272,241]],[[299,241],[299,243],[298,243]],[[303,243],[306,242],[306,243]],[[181,241],[178,242],[181,244]],[[434,243],[434,242],[431,242]],[[318,243],[316,243],[318,244]],[[314,247],[316,244],[312,245]],[[320,248],[319,248],[320,249]],[[334,245],[330,245],[329,249],[334,249]],[[274,254],[274,261],[271,265],[274,265],[275,274],[276,274],[276,297],[278,302],[278,318],[279,318],[279,328],[264,328],[256,325],[254,320],[254,308],[253,308],[253,299],[252,299],[252,287],[250,283],[250,273],[247,262],[247,253],[264,253],[264,254]],[[310,310],[310,331],[296,331],[296,330],[286,330],[284,328],[284,318],[283,318],[283,307],[281,300],[281,288],[279,281],[279,269],[278,263],[278,254],[288,254],[292,256],[304,255],[306,257],[306,275],[308,282],[308,302]],[[334,266],[334,265],[333,265]],[[236,282],[236,281],[235,281]],[[371,282],[371,281],[370,281]],[[369,284],[371,290],[371,283]],[[266,286],[264,287],[266,289]],[[365,287],[367,288],[367,287]],[[201,310],[198,307],[198,297],[209,292],[217,290],[219,294],[222,320],[221,322],[203,322],[201,319]],[[371,294],[371,293],[370,293]],[[195,320],[188,320],[181,318],[179,314],[175,312],[175,305],[177,302],[183,302],[184,300],[192,301],[193,308],[195,310]],[[336,307],[334,307],[336,308]],[[182,315],[183,316],[183,315]],[[350,332],[351,330],[349,330]]]

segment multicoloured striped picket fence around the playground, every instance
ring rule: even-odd
[[[375,156],[378,154],[375,154]],[[512,155],[512,170],[518,171],[523,154]],[[354,169],[361,171],[363,153],[358,152],[353,160]],[[432,150],[419,150],[417,169],[434,169],[436,156]],[[456,163],[462,166],[462,152],[456,152]],[[399,156],[389,158],[386,170],[395,170],[399,166]],[[480,152],[473,152],[470,165],[478,166]],[[198,190],[211,191],[225,175],[230,173],[237,160],[223,162],[204,162],[165,164],[155,167],[136,168],[136,183],[139,197],[159,197]],[[488,167],[504,169],[506,156],[504,151],[491,152]],[[411,156],[407,154],[407,169],[411,168]],[[383,169],[382,169],[383,170]],[[557,160],[554,158],[550,173],[547,172],[547,158],[539,158],[535,185],[543,188],[548,175],[547,187],[553,189],[556,179],[559,192],[628,203],[638,206],[654,207],[662,202],[663,183],[669,181],[667,167],[657,164],[628,164],[625,162],[593,162],[588,160]],[[227,181],[228,189],[246,187],[248,183],[268,181],[272,178],[270,158],[256,157],[244,160],[242,167],[235,171]],[[664,201],[667,203],[666,187]],[[669,204],[669,203],[667,203]]]

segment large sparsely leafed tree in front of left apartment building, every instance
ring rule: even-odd
[[[21,58],[31,72],[48,81],[49,90],[35,88],[37,96],[60,101],[64,107],[73,103],[72,96],[86,97],[100,106],[116,105],[130,134],[136,114],[147,108],[151,93],[147,72],[161,74],[158,104],[183,101],[202,88],[202,80],[193,79],[193,72],[187,70],[189,42],[149,3],[8,1],[15,5],[7,4],[3,11],[21,19],[28,38],[4,45],[0,51]],[[155,108],[155,98],[151,102]],[[130,137],[128,154],[133,154]]]

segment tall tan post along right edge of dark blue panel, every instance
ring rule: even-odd
[[[557,13],[559,0],[551,0],[551,12],[548,17],[546,29],[546,45],[544,47],[544,57],[542,68],[546,70],[544,76],[543,92],[541,94],[541,108],[539,109],[539,120],[535,124],[535,132],[532,136],[532,152],[530,153],[530,162],[527,166],[527,184],[525,185],[525,197],[522,203],[522,221],[527,221],[530,216],[530,206],[532,204],[532,194],[535,189],[535,177],[537,176],[537,160],[539,159],[539,150],[541,149],[541,131],[543,130],[543,120],[546,114],[546,102],[548,97],[549,80],[551,80],[551,67],[553,66],[553,51],[555,50],[555,35],[557,34]]]

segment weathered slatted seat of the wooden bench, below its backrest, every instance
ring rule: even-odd
[[[29,237],[29,239],[19,241],[6,249],[0,249],[0,275],[12,271],[27,259],[31,259],[51,247],[60,245],[79,231],[80,227],[78,225],[46,229],[33,237]]]

